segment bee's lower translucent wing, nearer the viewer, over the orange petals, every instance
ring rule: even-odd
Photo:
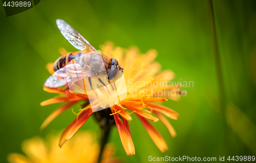
[[[79,64],[68,64],[54,72],[44,85],[50,88],[61,87],[69,82],[74,83],[82,78],[89,78],[94,75],[95,73],[92,73],[92,71],[83,71]]]

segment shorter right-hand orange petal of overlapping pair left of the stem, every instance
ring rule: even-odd
[[[85,112],[85,113],[80,114],[78,116],[78,120],[77,120],[76,124],[70,129],[69,133],[67,134],[67,136],[66,136],[67,140],[71,139],[74,136],[74,134],[79,130],[79,128],[81,128],[82,125],[84,123],[86,123],[86,121],[89,119],[89,117],[93,114],[93,111],[90,108],[83,112]]]

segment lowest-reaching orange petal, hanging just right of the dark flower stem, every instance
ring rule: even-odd
[[[112,112],[114,113],[114,111],[112,110]],[[133,145],[133,140],[132,137],[129,133],[129,131],[127,131],[126,127],[123,125],[122,121],[120,120],[120,118],[118,117],[118,114],[113,114],[115,122],[116,122],[116,127],[123,145],[123,148],[126,152],[126,154],[128,156],[131,156],[133,154],[135,154],[135,148]]]

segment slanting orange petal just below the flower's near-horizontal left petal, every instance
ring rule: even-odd
[[[65,110],[67,110],[69,107],[71,107],[72,105],[74,105],[76,103],[75,102],[70,102],[67,103],[65,105],[62,105],[61,107],[59,107],[58,109],[56,109],[55,111],[53,111],[48,117],[47,119],[44,121],[44,123],[42,123],[40,130],[44,130],[50,122],[52,122],[52,120],[54,120],[56,117],[58,117],[59,114],[61,114],[62,112],[64,112]]]

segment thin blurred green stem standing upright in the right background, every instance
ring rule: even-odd
[[[229,150],[229,128],[226,125],[226,94],[225,94],[225,86],[223,80],[223,71],[222,71],[222,61],[220,56],[220,48],[218,44],[218,20],[215,10],[215,4],[212,0],[208,0],[209,3],[209,12],[210,12],[210,23],[211,23],[211,33],[212,33],[212,40],[214,43],[214,54],[215,54],[215,63],[217,68],[217,76],[218,76],[218,83],[220,89],[220,107],[221,107],[221,114],[222,114],[222,124],[224,129],[224,136],[225,136],[225,143],[226,143],[226,152],[227,154],[230,152]],[[220,39],[219,39],[220,41]]]

